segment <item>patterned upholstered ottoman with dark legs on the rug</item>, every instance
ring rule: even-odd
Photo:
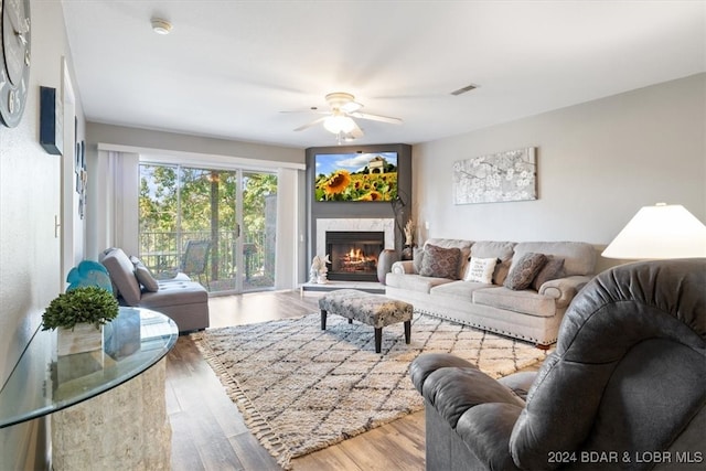
[[[355,289],[339,289],[320,298],[319,309],[321,309],[321,330],[327,330],[327,314],[329,312],[347,318],[349,323],[356,320],[372,325],[375,329],[375,353],[381,352],[383,328],[386,325],[404,322],[405,343],[409,343],[413,307],[408,302]]]

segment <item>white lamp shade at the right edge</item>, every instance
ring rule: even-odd
[[[602,253],[625,260],[706,257],[706,226],[684,206],[645,206]]]

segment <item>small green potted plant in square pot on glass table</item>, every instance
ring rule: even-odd
[[[42,315],[42,330],[57,330],[60,355],[103,347],[103,325],[118,315],[113,293],[96,286],[73,288],[58,295]]]

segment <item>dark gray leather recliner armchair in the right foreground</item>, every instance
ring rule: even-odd
[[[410,375],[428,470],[705,469],[706,259],[596,277],[537,373],[428,354]]]

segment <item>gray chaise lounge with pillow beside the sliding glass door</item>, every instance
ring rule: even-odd
[[[121,306],[162,312],[176,323],[180,333],[208,327],[208,291],[186,275],[154,279],[140,260],[120,248],[104,250],[99,261],[108,270]]]

